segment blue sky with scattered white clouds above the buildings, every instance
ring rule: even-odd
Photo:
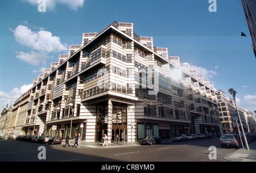
[[[68,54],[69,45],[81,44],[82,33],[99,33],[116,20],[134,23],[137,35],[153,37],[155,47],[168,48],[228,97],[234,88],[238,107],[253,112],[256,58],[242,3],[215,1],[1,0],[0,109]]]

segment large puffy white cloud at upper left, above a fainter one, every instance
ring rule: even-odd
[[[38,32],[33,32],[27,26],[20,24],[13,32],[16,41],[34,50],[44,52],[59,52],[68,50],[67,45],[60,43],[59,37],[52,36],[51,32],[44,31],[43,28],[40,28],[40,31]]]

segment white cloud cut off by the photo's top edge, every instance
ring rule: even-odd
[[[22,0],[26,1],[32,5],[39,6],[38,0]],[[67,5],[72,10],[77,10],[78,7],[84,6],[85,0],[46,0],[46,10],[53,10],[56,7],[56,4]]]

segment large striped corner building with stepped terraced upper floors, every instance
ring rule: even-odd
[[[119,134],[131,142],[222,132],[213,83],[154,47],[152,37],[136,35],[133,23],[84,33],[82,44],[34,79],[26,96],[26,134],[81,133],[85,141],[107,134],[109,142]]]

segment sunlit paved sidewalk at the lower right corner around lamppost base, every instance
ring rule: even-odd
[[[246,147],[245,147],[245,151],[243,151],[243,148],[241,147],[240,149],[224,157],[224,159],[232,162],[256,162],[256,142],[255,141],[249,144],[249,149],[250,150],[246,150]]]

